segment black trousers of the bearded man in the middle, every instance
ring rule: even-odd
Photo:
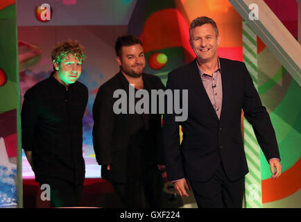
[[[163,201],[163,180],[159,169],[146,172],[136,183],[112,183],[126,208],[160,208]]]

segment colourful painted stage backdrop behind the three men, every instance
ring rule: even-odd
[[[9,5],[12,1],[4,2]],[[41,22],[35,13],[37,6],[42,3],[51,6],[50,21]],[[266,0],[266,3],[297,37],[296,1],[289,0],[283,3],[278,0]],[[280,10],[278,3],[286,6]],[[1,10],[0,15],[9,7],[12,6]],[[157,75],[163,83],[166,83],[169,71],[193,60],[188,28],[192,19],[201,15],[212,17],[217,22],[221,33],[218,55],[244,61],[248,65],[261,100],[270,113],[279,143],[283,173],[277,180],[271,180],[270,169],[264,155],[256,148],[258,144],[253,137],[252,128],[244,122],[245,149],[250,168],[246,178],[245,206],[301,207],[300,86],[270,53],[256,33],[252,33],[246,26],[243,28],[243,24],[246,23],[243,23],[240,15],[227,0],[19,0],[17,31],[21,102],[26,90],[47,78],[52,71],[51,49],[57,42],[74,39],[83,44],[87,51],[87,60],[83,63],[83,73],[79,80],[89,88],[89,102],[83,119],[83,155],[86,162],[86,177],[100,177],[100,167],[96,164],[92,147],[92,105],[98,87],[119,71],[114,53],[115,40],[119,35],[127,33],[139,36],[146,53],[146,73]],[[3,29],[2,20],[0,22],[1,33],[9,31],[9,28]],[[11,86],[17,81],[17,77],[11,71],[16,69],[13,62],[17,58],[13,53],[15,44],[11,40],[6,40],[10,44],[4,45],[3,38],[7,36],[1,34],[0,37],[0,73],[8,76],[6,83],[0,86],[0,117],[6,114],[3,119],[8,121],[8,116],[12,116],[10,122],[16,126],[16,113],[19,113],[19,110],[16,111],[16,106],[13,105],[17,104],[17,96],[16,89]],[[2,55],[6,55],[5,59],[2,59]],[[12,59],[8,59],[8,56],[12,56]],[[9,74],[12,74],[12,77],[9,77]],[[11,99],[8,99],[9,96]],[[1,123],[0,137],[4,138],[6,149],[8,144],[15,143],[12,148],[15,157],[17,129],[12,129],[10,133],[8,130],[9,128]],[[23,177],[25,179],[33,177],[26,157],[23,156],[22,160]],[[8,162],[16,164],[11,163],[10,156]],[[15,172],[16,169],[12,167],[12,175]],[[7,175],[11,173],[6,172]]]

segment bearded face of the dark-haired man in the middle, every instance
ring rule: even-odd
[[[124,74],[139,78],[146,64],[143,47],[141,44],[122,46],[121,58],[117,56],[117,62]]]

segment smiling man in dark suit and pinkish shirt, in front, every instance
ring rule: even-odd
[[[167,178],[180,196],[188,196],[188,179],[198,207],[242,207],[248,166],[241,109],[270,164],[272,178],[281,173],[275,132],[244,63],[218,58],[221,37],[216,23],[198,17],[191,22],[189,35],[196,60],[171,71],[166,85],[166,89],[188,89],[187,120],[175,122],[175,114],[163,118]]]

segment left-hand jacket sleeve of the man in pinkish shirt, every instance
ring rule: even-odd
[[[169,73],[169,78],[166,83],[166,90],[177,89]],[[165,111],[163,117],[163,146],[164,146],[164,161],[166,164],[166,174],[170,181],[185,178],[184,166],[182,163],[182,153],[180,150],[180,132],[179,122],[175,121],[175,112],[167,114],[167,101],[165,101]]]

